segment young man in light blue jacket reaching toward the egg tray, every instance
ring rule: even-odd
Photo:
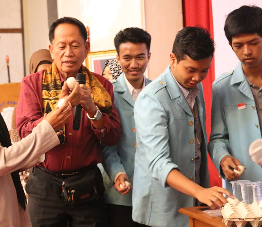
[[[226,203],[220,192],[231,196],[226,189],[209,188],[201,81],[214,50],[205,29],[183,28],[174,41],[171,63],[138,96],[132,196],[132,218],[138,223],[185,227],[188,217],[179,208],[201,203],[214,208],[213,202]]]

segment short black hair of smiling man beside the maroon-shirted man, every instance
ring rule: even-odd
[[[125,28],[116,34],[114,45],[119,55],[119,46],[121,43],[145,43],[147,51],[150,51],[151,35],[142,28]]]

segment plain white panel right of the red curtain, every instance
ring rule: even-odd
[[[262,8],[261,0],[212,0],[215,52],[215,77],[235,69],[239,62],[224,33],[226,15],[242,5],[257,5]]]

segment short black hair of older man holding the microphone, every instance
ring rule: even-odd
[[[72,18],[72,17],[63,17],[63,18],[58,19],[54,23],[52,23],[50,28],[49,28],[49,41],[50,41],[51,44],[52,44],[52,42],[55,38],[56,27],[59,24],[74,24],[74,25],[76,25],[79,28],[81,37],[84,39],[84,41],[87,40],[87,33],[86,33],[85,25],[80,20],[78,20],[76,18]]]

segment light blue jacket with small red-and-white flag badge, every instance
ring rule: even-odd
[[[237,104],[245,103],[245,109]],[[255,100],[242,70],[241,62],[235,70],[221,74],[213,83],[211,135],[208,151],[216,169],[225,178],[220,161],[225,155],[232,155],[246,166],[243,180],[262,180],[262,169],[249,156],[249,146],[261,139],[261,132]],[[226,188],[232,193],[232,186],[226,180]]]

